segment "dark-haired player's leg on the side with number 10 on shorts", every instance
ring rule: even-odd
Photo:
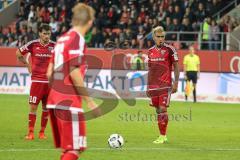
[[[34,139],[34,127],[37,118],[37,108],[40,102],[38,94],[39,86],[37,83],[32,83],[29,96],[29,114],[28,114],[28,134],[25,137],[27,140]]]

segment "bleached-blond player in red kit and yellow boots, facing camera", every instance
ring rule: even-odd
[[[150,105],[156,108],[158,114],[160,136],[153,143],[161,144],[167,141],[167,107],[169,106],[170,96],[178,88],[178,54],[173,46],[164,42],[165,32],[163,27],[158,26],[154,28],[152,36],[155,45],[148,50],[149,72],[147,95],[151,98]],[[172,67],[174,68],[173,83],[171,76]]]

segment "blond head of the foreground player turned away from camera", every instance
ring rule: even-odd
[[[95,14],[95,11],[92,7],[84,3],[78,3],[73,7],[72,12],[72,25],[74,27],[80,26],[86,31],[92,27]]]

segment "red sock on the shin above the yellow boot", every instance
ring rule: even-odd
[[[166,135],[168,125],[168,113],[162,112],[158,114],[158,128],[161,135]]]

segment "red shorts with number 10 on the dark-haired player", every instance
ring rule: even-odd
[[[40,101],[42,101],[42,104],[46,105],[48,93],[48,83],[32,82],[29,96],[29,104],[38,105]]]

